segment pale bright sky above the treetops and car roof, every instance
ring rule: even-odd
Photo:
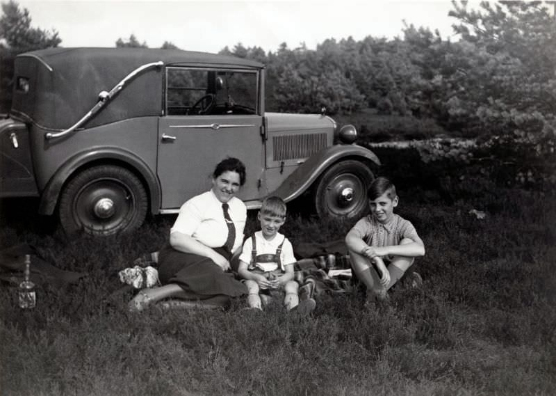
[[[115,47],[118,38],[134,34],[152,48],[170,41],[181,49],[219,52],[240,42],[276,52],[282,42],[315,49],[329,38],[401,37],[404,21],[455,38],[448,0],[16,1],[29,11],[33,27],[58,31],[63,47]]]

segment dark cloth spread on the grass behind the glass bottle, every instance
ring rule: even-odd
[[[31,255],[31,281],[35,285],[49,284],[56,288],[78,283],[86,274],[64,271],[54,267],[38,255],[33,246],[19,244],[0,251],[0,279],[12,285],[19,285],[23,280],[25,255]]]

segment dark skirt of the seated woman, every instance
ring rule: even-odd
[[[158,256],[158,278],[163,285],[175,283],[188,294],[204,297],[247,294],[247,287],[234,274],[222,271],[210,258],[177,251],[169,244]]]

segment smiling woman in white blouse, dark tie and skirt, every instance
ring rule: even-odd
[[[227,306],[247,287],[229,272],[230,260],[243,242],[245,204],[236,193],[245,183],[245,166],[224,159],[213,172],[210,191],[184,203],[170,229],[170,244],[158,253],[158,278],[163,286],[145,289],[131,300],[142,310],[169,296],[193,300],[198,306]]]

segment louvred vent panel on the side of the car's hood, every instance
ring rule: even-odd
[[[326,148],[326,134],[295,134],[272,138],[275,161],[310,157]]]

